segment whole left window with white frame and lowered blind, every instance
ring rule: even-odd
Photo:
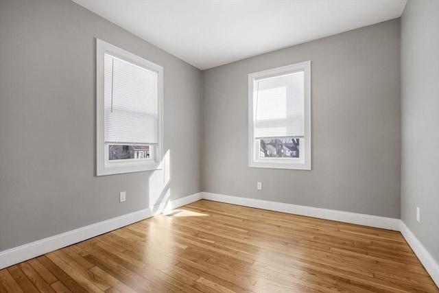
[[[163,67],[96,42],[97,176],[158,168]]]

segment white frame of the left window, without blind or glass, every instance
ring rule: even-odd
[[[105,54],[126,60],[134,65],[157,72],[157,145],[150,148],[150,158],[137,160],[108,159],[108,148],[105,143]],[[96,159],[97,176],[141,172],[159,169],[163,159],[163,67],[124,49],[96,39]]]

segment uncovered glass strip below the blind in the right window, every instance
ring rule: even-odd
[[[300,158],[300,139],[259,139],[261,158]]]

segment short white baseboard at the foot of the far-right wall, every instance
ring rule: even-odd
[[[401,220],[399,231],[405,238],[405,241],[410,245],[416,257],[418,257],[420,263],[423,264],[425,270],[429,273],[431,279],[439,288],[439,263],[437,263],[434,258],[430,255],[423,244],[416,238],[416,236],[410,231],[410,229],[405,226],[404,222]]]

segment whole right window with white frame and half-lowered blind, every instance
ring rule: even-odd
[[[311,62],[248,75],[249,167],[311,169]]]

